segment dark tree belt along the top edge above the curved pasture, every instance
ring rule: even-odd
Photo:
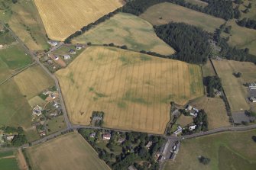
[[[186,2],[185,0],[130,0],[122,8],[122,11],[139,15],[146,11],[147,8],[160,2],[171,2],[206,14],[212,14],[215,17],[223,18],[225,20],[238,18],[238,16],[241,15],[238,8],[233,8],[231,0],[203,0],[203,2],[207,2],[209,4],[204,8],[202,6]]]

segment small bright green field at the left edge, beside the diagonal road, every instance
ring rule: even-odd
[[[1,50],[0,59],[12,70],[20,69],[31,63],[31,56],[24,53],[23,48],[19,44]]]

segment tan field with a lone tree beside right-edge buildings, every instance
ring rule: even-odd
[[[246,101],[248,91],[243,84],[255,82],[256,66],[253,63],[241,63],[232,60],[213,60],[213,64],[219,77],[222,79],[222,86],[231,110],[233,112],[248,110],[250,108]],[[241,78],[235,78],[234,72],[241,72]]]

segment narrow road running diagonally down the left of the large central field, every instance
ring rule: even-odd
[[[4,25],[1,21],[0,21],[0,24]],[[24,42],[23,42],[18,36],[16,36],[16,34],[15,34],[9,27],[6,27],[5,25],[4,25],[4,27],[5,27],[6,29],[8,29],[8,30],[10,31],[11,35],[12,35],[13,37],[15,37],[15,39],[21,44],[22,47],[24,47],[24,50],[26,51],[26,53],[30,54],[30,55],[32,56],[32,58],[34,59],[34,61],[35,61],[39,66],[41,66],[42,69],[44,69],[44,71],[47,72],[47,74],[50,75],[50,77],[54,80],[55,85],[56,85],[56,87],[57,87],[57,91],[59,92],[60,105],[61,105],[61,107],[62,107],[63,116],[64,116],[64,119],[65,119],[65,122],[66,122],[66,127],[67,127],[67,128],[71,128],[72,125],[71,125],[71,123],[70,123],[70,120],[69,120],[69,118],[68,118],[68,115],[66,114],[66,107],[65,107],[65,104],[64,104],[64,101],[63,101],[63,95],[62,95],[62,93],[61,93],[61,91],[60,91],[60,84],[59,84],[57,78],[55,77],[55,75],[53,75],[53,74],[39,61],[39,59],[38,59],[36,56],[34,56],[34,53],[33,53],[31,50],[28,49],[28,47],[24,44]],[[60,47],[60,46],[62,46],[62,45],[63,45],[63,43],[60,43],[59,46],[57,46],[57,47]],[[54,49],[56,50],[57,47],[54,48]]]

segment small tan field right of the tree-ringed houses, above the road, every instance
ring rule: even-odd
[[[225,104],[221,98],[198,98],[191,103],[198,109],[204,109],[208,116],[209,129],[228,127],[228,115],[225,111]]]

